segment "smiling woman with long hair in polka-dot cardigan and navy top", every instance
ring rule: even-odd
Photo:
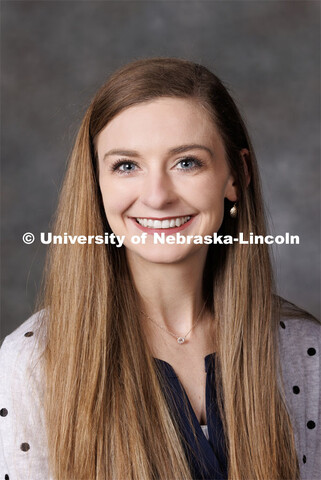
[[[319,324],[274,295],[267,245],[200,240],[265,235],[215,75],[154,58],[108,80],[70,159],[65,232],[108,243],[53,245],[40,313],[3,344],[4,478],[318,477]]]

